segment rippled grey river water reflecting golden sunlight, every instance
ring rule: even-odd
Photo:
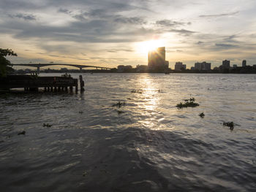
[[[84,93],[0,97],[1,191],[255,191],[255,74],[83,79]]]

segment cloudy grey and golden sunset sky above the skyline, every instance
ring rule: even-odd
[[[147,65],[148,41],[177,61],[256,64],[255,0],[0,0],[13,64]]]

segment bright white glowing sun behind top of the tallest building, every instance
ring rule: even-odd
[[[147,54],[148,51],[156,50],[158,47],[163,47],[163,44],[163,41],[160,39],[139,42],[137,45],[137,50],[139,53]]]

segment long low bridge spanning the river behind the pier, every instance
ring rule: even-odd
[[[31,67],[37,67],[37,74],[39,74],[40,71],[40,67],[43,66],[75,66],[78,67],[80,69],[80,71],[82,71],[83,68],[96,68],[96,69],[111,69],[109,67],[105,67],[105,66],[89,66],[89,65],[76,65],[76,64],[12,64],[12,66],[31,66]]]

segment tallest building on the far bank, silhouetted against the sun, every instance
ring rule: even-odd
[[[148,69],[150,72],[165,71],[165,47],[148,52]]]

